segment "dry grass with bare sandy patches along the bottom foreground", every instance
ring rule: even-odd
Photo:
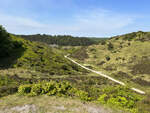
[[[123,113],[100,104],[63,97],[24,97],[10,95],[0,99],[0,113]],[[124,112],[125,113],[125,112]]]

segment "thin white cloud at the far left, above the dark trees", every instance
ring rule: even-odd
[[[0,24],[12,33],[29,33],[41,29],[43,24],[30,18],[0,14]]]

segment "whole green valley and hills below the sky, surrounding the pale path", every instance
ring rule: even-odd
[[[0,113],[149,113],[149,34],[100,40],[57,36],[58,44],[47,35],[22,38],[0,27]],[[146,95],[77,66],[67,54]]]

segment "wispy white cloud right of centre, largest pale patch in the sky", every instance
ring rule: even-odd
[[[86,11],[77,15],[78,32],[90,35],[113,34],[134,22],[134,17],[107,10]]]

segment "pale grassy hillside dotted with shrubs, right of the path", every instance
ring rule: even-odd
[[[82,50],[72,57],[80,58]],[[83,54],[83,53],[82,53]],[[85,64],[116,79],[136,83],[144,89],[150,88],[150,33],[134,32],[112,37],[99,45],[84,50]],[[82,58],[83,59],[83,58]]]

